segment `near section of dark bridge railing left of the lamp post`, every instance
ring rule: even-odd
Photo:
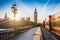
[[[7,38],[12,37],[12,36],[15,36],[15,31],[6,30],[6,31],[0,32],[0,39],[1,40],[7,39]]]

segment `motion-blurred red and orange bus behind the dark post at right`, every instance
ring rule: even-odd
[[[51,15],[52,31],[60,36],[60,11],[54,15]],[[49,30],[49,17],[46,18],[45,28]]]

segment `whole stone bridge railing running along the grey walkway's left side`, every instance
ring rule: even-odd
[[[31,28],[32,26],[28,26],[28,27],[26,26],[26,27],[16,28],[16,31],[14,28],[13,29],[8,28],[7,30],[0,31],[0,39],[4,40],[16,36],[16,34],[19,34],[20,32],[25,32],[26,30]]]

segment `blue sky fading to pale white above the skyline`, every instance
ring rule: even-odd
[[[0,18],[7,13],[8,17],[13,19],[11,7],[14,3],[18,9],[16,15],[18,20],[22,17],[30,17],[33,21],[35,8],[38,13],[38,22],[60,11],[60,0],[0,0]]]

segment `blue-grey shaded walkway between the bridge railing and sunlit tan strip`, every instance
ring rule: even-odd
[[[26,31],[25,33],[19,34],[12,38],[8,38],[7,40],[33,40],[34,34],[36,33],[37,28],[38,27],[32,28],[29,31]]]

